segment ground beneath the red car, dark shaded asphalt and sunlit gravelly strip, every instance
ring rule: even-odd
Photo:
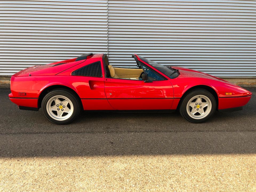
[[[178,113],[82,113],[69,125],[0,89],[0,191],[255,191],[256,89],[202,124]]]

